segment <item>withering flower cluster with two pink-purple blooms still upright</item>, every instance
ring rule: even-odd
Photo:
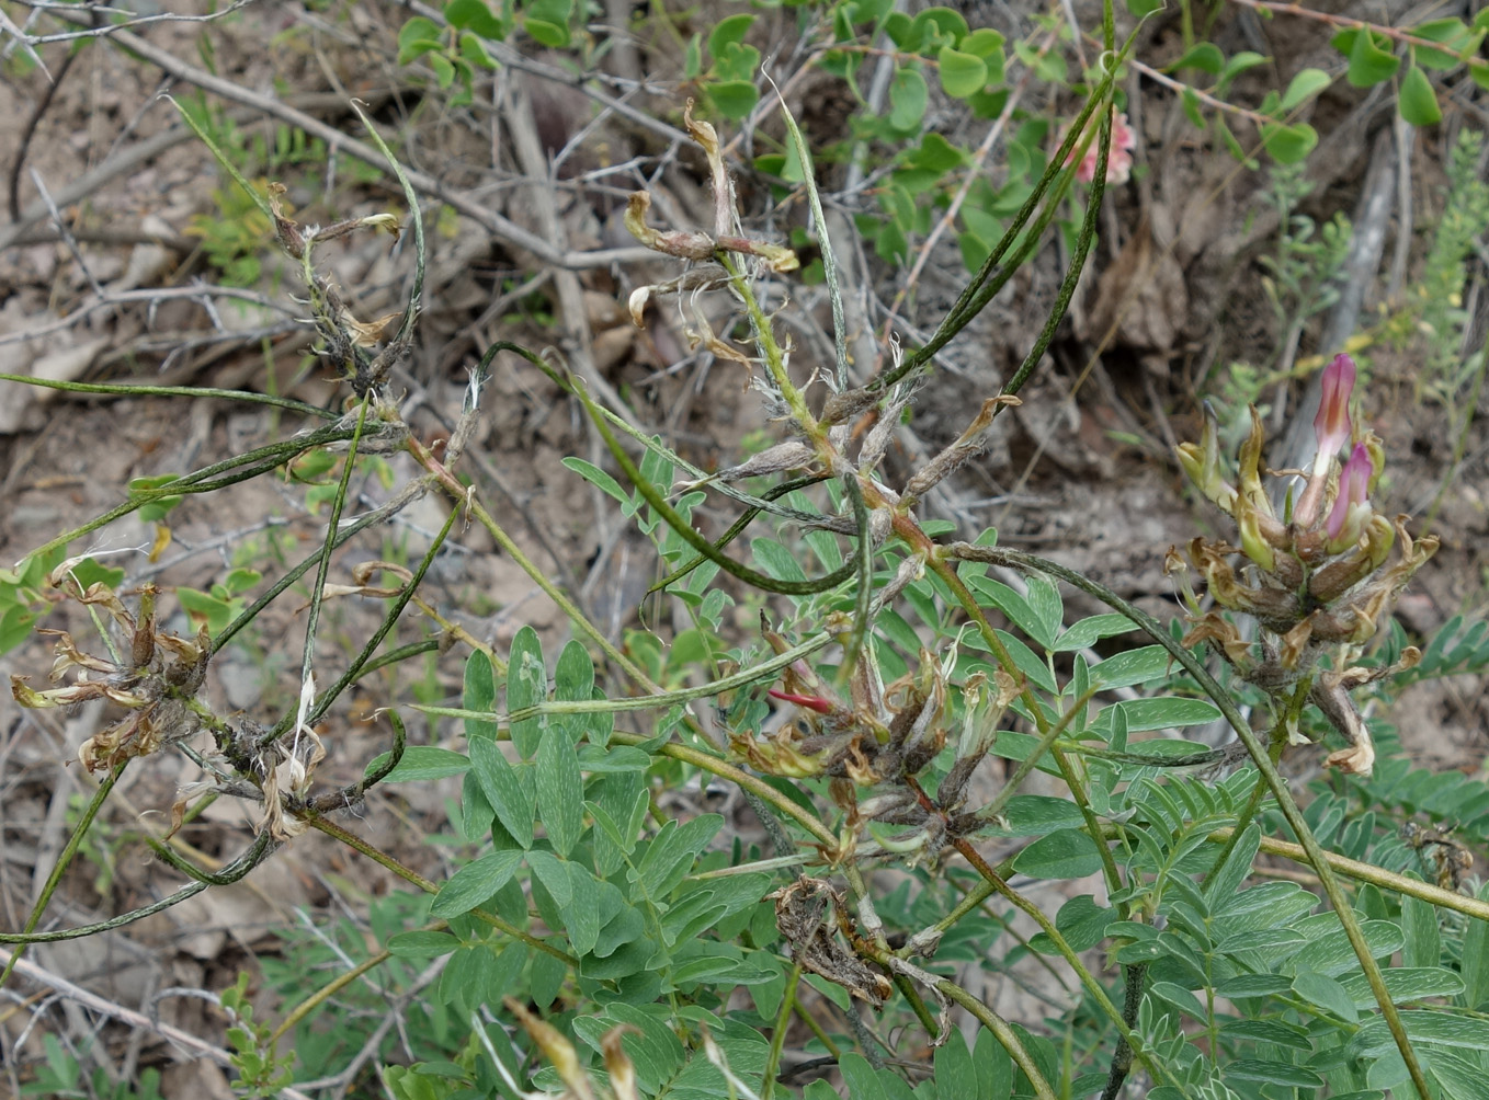
[[[1322,400],[1313,432],[1318,453],[1301,476],[1304,488],[1278,515],[1261,481],[1261,420],[1251,411],[1251,435],[1240,448],[1236,484],[1221,470],[1214,418],[1206,418],[1199,444],[1182,444],[1179,463],[1199,490],[1236,521],[1240,546],[1194,539],[1188,563],[1205,578],[1211,598],[1227,610],[1249,615],[1261,628],[1248,642],[1236,624],[1217,610],[1202,610],[1182,581],[1188,566],[1178,551],[1167,569],[1181,578],[1194,628],[1185,645],[1208,642],[1240,674],[1278,698],[1309,682],[1309,701],[1349,741],[1328,758],[1343,771],[1368,776],[1374,765],[1370,731],[1349,692],[1421,659],[1407,649],[1394,667],[1356,664],[1365,645],[1388,621],[1406,582],[1437,551],[1437,539],[1418,542],[1406,517],[1374,511],[1370,494],[1385,467],[1380,439],[1352,424],[1349,399],[1355,362],[1336,356],[1324,371]],[[1348,445],[1349,457],[1339,454]],[[1400,558],[1386,566],[1400,542]],[[1236,554],[1242,555],[1236,560]],[[1328,658],[1325,665],[1324,659]],[[1294,740],[1297,732],[1292,731]]]

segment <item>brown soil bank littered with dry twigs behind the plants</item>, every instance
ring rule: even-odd
[[[1004,19],[1004,10],[999,6],[999,13],[989,18]],[[404,137],[401,152],[409,167],[479,196],[491,210],[549,243],[554,238],[543,219],[557,217],[564,238],[558,243],[561,250],[628,247],[619,210],[624,192],[637,186],[636,177],[596,173],[630,158],[646,158],[646,164],[655,165],[655,158],[669,152],[667,137],[654,127],[612,116],[566,159],[558,173],[567,182],[564,186],[526,186],[503,129],[511,116],[490,107],[450,109],[423,85],[423,77],[412,86],[409,71],[395,64],[396,33],[405,18],[404,7],[390,3],[253,6],[214,24],[162,22],[144,34],[194,65],[200,64],[198,43],[210,42],[217,76],[244,89],[277,89],[284,101],[301,97],[308,112],[347,134],[359,134],[360,127],[342,106],[334,106],[337,97],[368,98],[384,132]],[[1291,31],[1298,27],[1291,25]],[[1237,42],[1249,33],[1270,34],[1275,71],[1285,79],[1304,64],[1334,64],[1322,31],[1310,27],[1304,31],[1278,34],[1270,25],[1258,31],[1237,19],[1225,33]],[[1148,49],[1155,63],[1178,52],[1176,33],[1172,22],[1158,22],[1150,31]],[[64,57],[58,46],[45,48],[42,55],[54,71]],[[677,71],[677,60],[661,40],[646,39],[640,58],[655,65],[658,79]],[[549,65],[560,60],[539,58]],[[46,77],[40,71],[22,73],[13,58],[4,71],[13,98],[12,109],[0,112],[0,165],[9,168],[19,153],[22,127],[39,110]],[[19,205],[25,208],[37,198],[30,173],[37,173],[49,191],[61,192],[119,149],[174,127],[174,110],[158,97],[159,79],[158,68],[103,43],[83,51],[42,113],[27,147]],[[1260,74],[1257,79],[1263,80]],[[564,149],[593,115],[591,101],[569,86],[515,68],[503,70],[503,94],[506,82],[532,97],[533,127],[549,155]],[[817,85],[806,82],[795,89],[800,98],[794,106],[813,140],[834,140],[834,134],[841,135],[852,104],[813,88]],[[1279,336],[1260,265],[1261,256],[1275,247],[1276,216],[1266,204],[1264,171],[1237,168],[1217,152],[1184,122],[1176,101],[1157,85],[1135,77],[1133,89],[1142,92],[1141,113],[1135,112],[1133,119],[1141,132],[1142,171],[1112,195],[1072,320],[1023,391],[1023,405],[995,432],[983,458],[932,497],[931,505],[957,522],[966,537],[998,525],[1004,545],[1036,549],[1141,606],[1172,615],[1163,555],[1173,543],[1214,531],[1217,518],[1193,506],[1170,448],[1176,441],[1196,438],[1199,399],[1218,386],[1227,365],[1266,359]],[[173,92],[182,100],[195,97],[186,82],[174,83]],[[637,97],[634,103],[673,125],[682,95],[679,91],[676,98]],[[490,86],[478,82],[478,104],[482,97],[490,103]],[[1337,82],[1316,104],[1313,124],[1325,135],[1325,144],[1309,161],[1316,186],[1303,210],[1322,222],[1336,210],[1354,211],[1371,141],[1391,124],[1389,98],[1374,104]],[[1468,124],[1459,113],[1418,135],[1409,202],[1418,229],[1440,211],[1441,162],[1455,129]],[[240,129],[250,147],[259,138],[274,146],[272,122],[243,122]],[[975,144],[980,134],[960,140]],[[585,173],[596,176],[594,182],[573,183]],[[386,180],[368,182],[369,174],[351,162],[339,162],[332,177],[323,155],[272,167],[259,164],[255,174],[289,186],[287,198],[301,223],[331,223],[402,207],[396,188]],[[744,201],[755,205],[746,213],[764,220],[768,195],[747,185],[749,180]],[[76,234],[76,255],[52,238],[45,219],[19,237],[7,237],[7,247],[0,252],[4,369],[88,381],[272,387],[322,406],[338,400],[341,391],[310,354],[308,335],[295,322],[301,310],[292,301],[299,293],[292,265],[272,258],[268,246],[258,253],[264,263],[264,277],[256,283],[262,302],[219,299],[208,310],[200,298],[176,296],[155,304],[144,295],[127,299],[127,292],[137,289],[220,280],[191,234],[194,225],[226,232],[235,219],[246,219],[241,210],[225,213],[213,198],[225,186],[201,146],[183,140],[86,195],[68,198],[64,214]],[[710,223],[706,173],[691,147],[676,149],[654,192],[657,223],[664,219],[679,225]],[[393,391],[412,402],[408,418],[420,438],[448,435],[466,387],[466,368],[497,338],[535,348],[555,345],[572,360],[587,354],[594,377],[624,396],[637,424],[661,433],[701,467],[739,461],[746,438],[771,432],[756,394],[746,388],[742,366],[689,354],[685,326],[692,323],[691,317],[669,304],[648,316],[646,329],[630,324],[624,311],[628,292],[675,274],[669,263],[584,269],[578,275],[582,310],[561,316],[558,275],[532,253],[448,210],[439,213],[438,202],[430,201],[427,211],[427,308],[414,354],[393,380]],[[198,217],[205,220],[194,222]],[[801,223],[800,207],[779,216],[774,232],[785,232],[788,222]],[[144,238],[131,243],[134,237],[121,244],[118,237],[109,237],[121,232],[144,234],[165,244]],[[1391,247],[1395,246],[1388,243],[1388,262]],[[1421,249],[1410,241],[1407,247],[1416,263]],[[390,252],[386,237],[362,234],[329,249],[323,259],[353,299],[357,316],[368,319],[399,308],[408,289],[411,256],[406,238]],[[947,350],[890,454],[890,484],[898,484],[919,458],[954,439],[969,411],[1017,366],[1053,302],[1063,259],[1056,249],[1042,252]],[[1489,299],[1482,293],[1482,265],[1474,272],[1477,281],[1465,292],[1465,302],[1477,304],[1465,339],[1470,348],[1483,341]],[[963,277],[956,249],[944,244],[902,316],[904,339],[914,342],[934,327]],[[887,304],[901,281],[902,274],[876,260],[867,289]],[[95,287],[104,290],[109,304],[83,313],[82,307],[97,302]],[[1371,323],[1377,308],[1388,305],[1385,292],[1382,274],[1367,296],[1361,327]],[[794,366],[806,377],[813,366],[829,362],[823,354],[831,347],[823,339],[825,298],[812,287],[792,289],[792,295],[800,295],[800,305],[810,307],[791,322],[797,342]],[[709,308],[716,330],[727,332],[727,316],[718,307]],[[783,314],[782,320],[791,319]],[[1319,351],[1315,347],[1319,327],[1321,320],[1306,327],[1301,356]],[[1389,508],[1423,515],[1438,488],[1447,487],[1432,525],[1443,548],[1401,607],[1410,631],[1428,637],[1455,613],[1482,613],[1486,561],[1480,546],[1489,536],[1485,479],[1489,447],[1479,424],[1458,445],[1455,432],[1467,414],[1467,391],[1452,406],[1423,399],[1415,386],[1413,350],[1373,347],[1370,359],[1373,386],[1364,408],[1391,458],[1383,488]],[[1270,426],[1286,417],[1298,391],[1298,384],[1286,381],[1266,387],[1261,400],[1284,409],[1281,418],[1269,420]],[[657,573],[649,545],[634,534],[613,502],[561,466],[566,455],[599,463],[597,439],[585,430],[573,402],[561,399],[552,384],[511,356],[497,362],[482,405],[485,414],[466,464],[482,500],[524,554],[575,592],[602,628],[621,637],[627,627],[636,625],[642,595]],[[133,478],[198,469],[304,426],[293,415],[261,408],[228,400],[54,396],[0,383],[4,509],[0,561],[15,561],[54,534],[106,512],[125,497]],[[414,472],[411,463],[392,463],[395,487]],[[389,493],[369,479],[354,487],[348,511],[374,508]],[[450,508],[444,499],[426,497],[402,512],[392,527],[344,552],[332,579],[337,575],[344,579],[360,560],[417,558]],[[265,527],[270,517],[274,525]],[[701,518],[721,530],[733,514],[710,503]],[[270,536],[283,542],[289,560],[298,560],[320,537],[325,521],[323,511],[307,512],[302,487],[256,479],[210,499],[188,497],[170,517],[174,542],[162,554],[161,561],[167,563],[162,570],[147,564],[138,549],[147,549],[155,539],[153,525],[134,517],[91,533],[74,548],[85,545],[116,554],[110,563],[167,589],[208,588],[250,540],[258,546],[249,554],[253,564],[272,573],[277,567],[268,552]],[[441,557],[426,585],[430,603],[474,636],[493,642],[497,652],[506,649],[524,624],[541,633],[548,652],[557,652],[570,634],[564,616],[479,527],[462,524],[456,531],[453,552]],[[1094,609],[1074,595],[1069,604]],[[338,664],[345,667],[380,615],[380,601],[363,597],[347,597],[328,607],[320,682],[334,677]],[[742,628],[753,627],[749,615],[742,613],[740,619]],[[60,612],[48,625],[88,636],[86,618],[76,607]],[[185,633],[185,621],[177,618],[176,628]],[[399,637],[412,640],[418,634],[418,628],[405,622]],[[289,604],[275,606],[244,645],[214,664],[210,697],[222,710],[265,723],[275,720],[293,706],[302,645],[304,613]],[[37,637],[0,656],[0,671],[30,676],[39,685],[51,664],[49,649],[51,640]],[[412,668],[369,677],[351,706],[337,713],[326,732],[328,783],[353,781],[383,750],[386,725],[368,720],[378,707],[395,698],[408,700],[415,688],[429,701],[459,700],[457,658],[438,661],[424,682],[415,685],[421,674],[423,670]],[[1416,762],[1465,771],[1480,767],[1486,749],[1483,686],[1479,679],[1459,677],[1423,685],[1401,700],[1397,722]],[[453,723],[421,723],[414,712],[406,714],[415,743],[459,743]],[[67,835],[68,814],[76,814],[76,805],[92,790],[92,780],[71,761],[80,741],[104,720],[94,706],[64,713],[21,712],[9,700],[0,703],[4,826],[0,926],[4,929],[24,926]],[[168,753],[155,758],[149,768],[131,770],[100,823],[110,845],[74,863],[48,909],[48,926],[103,920],[177,889],[180,877],[149,860],[146,850],[131,840],[131,831],[140,820],[161,820],[156,816],[168,813],[179,786],[198,776],[194,765]],[[421,841],[444,822],[444,801],[456,793],[454,780],[402,784],[395,796],[369,799],[362,819],[351,823],[408,865],[439,877],[448,872],[445,857]],[[201,857],[226,862],[252,840],[249,816],[243,807],[223,801],[182,835]],[[746,820],[744,828],[753,825],[747,814]],[[48,975],[86,985],[118,1006],[220,1046],[220,1014],[179,990],[222,990],[250,956],[275,948],[278,941],[271,929],[322,909],[365,911],[369,901],[386,896],[395,884],[392,875],[368,862],[353,866],[344,848],[311,835],[238,886],[208,890],[122,932],[34,948],[28,959]],[[177,991],[162,996],[162,990]],[[1042,1011],[1027,1005],[998,1006],[1011,1018],[1032,1020]],[[0,1009],[0,1027],[7,1033],[0,1042],[6,1051],[25,1020],[25,1014]],[[49,1027],[66,1030],[83,1023],[57,1015]],[[16,1051],[13,1066],[37,1064],[39,1033]],[[173,1054],[156,1036],[122,1026],[109,1029],[106,1037],[106,1061],[115,1069],[170,1067],[162,1088],[167,1097],[228,1096],[226,1079],[210,1060]],[[0,1079],[0,1093],[18,1079]]]

